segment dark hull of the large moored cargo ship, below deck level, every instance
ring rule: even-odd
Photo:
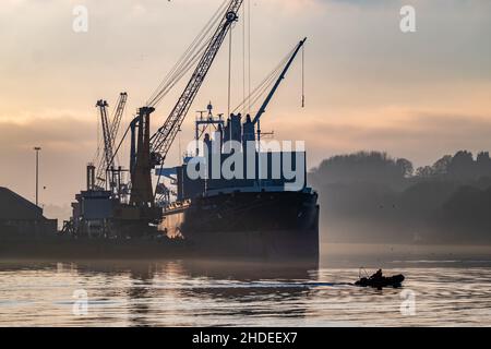
[[[319,260],[318,194],[311,191],[197,197],[167,208],[163,228],[200,256]]]

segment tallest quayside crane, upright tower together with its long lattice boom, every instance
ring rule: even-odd
[[[149,116],[160,101],[157,97],[140,108],[137,116],[131,123],[131,196],[130,204],[140,207],[153,207],[155,196],[152,188],[152,169],[164,166],[167,154],[176,140],[182,122],[197,95],[231,25],[238,20],[238,13],[243,0],[231,0],[221,17],[215,33],[207,40],[203,55],[191,75],[191,79],[179,97],[172,111],[158,129],[149,135]],[[157,183],[158,185],[158,183]]]

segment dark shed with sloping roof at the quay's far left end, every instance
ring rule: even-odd
[[[58,221],[13,191],[0,186],[0,238],[55,236]]]

